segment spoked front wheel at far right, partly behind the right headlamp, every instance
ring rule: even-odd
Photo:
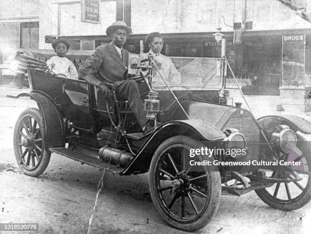
[[[270,207],[293,211],[311,200],[311,159],[309,155],[297,149],[288,154],[285,161],[300,163],[298,166],[291,166],[295,174],[290,171],[266,172],[268,177],[283,181],[255,192]]]

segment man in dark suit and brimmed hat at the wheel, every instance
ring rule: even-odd
[[[123,49],[127,36],[132,33],[132,28],[123,21],[116,21],[106,30],[112,42],[96,48],[93,54],[80,65],[81,77],[90,84],[97,86],[105,98],[111,97],[110,89],[106,83],[117,87],[119,100],[128,100],[130,108],[144,133],[151,129],[147,123],[146,111],[142,99],[148,94],[145,83],[138,84],[131,79],[123,78],[127,70],[129,52]]]

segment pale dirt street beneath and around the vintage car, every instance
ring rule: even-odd
[[[19,113],[36,103],[8,98],[5,92],[0,91],[0,223],[39,223],[40,233],[86,233],[103,171],[52,154],[39,178],[22,174],[14,158],[13,128]],[[155,210],[147,179],[148,174],[105,172],[90,233],[184,233],[169,227]],[[279,211],[250,192],[222,196],[214,219],[196,233],[310,233],[310,220],[311,203]]]

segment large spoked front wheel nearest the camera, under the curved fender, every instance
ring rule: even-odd
[[[158,147],[150,164],[149,190],[155,208],[169,225],[186,231],[204,227],[220,204],[219,171],[189,164],[190,149],[202,147],[189,136],[174,136]],[[197,155],[191,160],[203,158]]]

